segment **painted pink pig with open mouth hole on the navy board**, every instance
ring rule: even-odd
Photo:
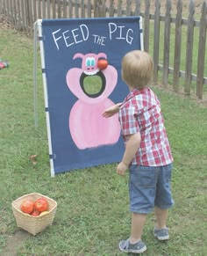
[[[78,98],[69,114],[72,139],[80,150],[117,143],[120,135],[118,115],[108,119],[102,116],[105,108],[114,105],[108,97],[118,81],[117,69],[111,65],[98,69],[98,59],[107,59],[103,53],[75,54],[75,58],[82,58],[82,69],[69,69],[66,76],[68,88]],[[100,91],[94,94],[89,94],[83,86],[84,78],[89,76],[99,76],[102,80]]]

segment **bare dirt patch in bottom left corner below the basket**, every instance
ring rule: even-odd
[[[31,235],[24,230],[18,230],[16,233],[8,236],[6,240],[6,247],[1,253],[1,256],[17,256],[18,247],[23,245],[25,240],[30,237]]]

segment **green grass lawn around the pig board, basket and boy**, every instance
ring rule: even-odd
[[[41,74],[38,74],[39,128],[34,128],[32,40],[0,29],[0,57],[10,68],[0,71],[0,254],[18,231],[11,202],[38,192],[58,202],[54,225],[30,236],[18,255],[121,255],[118,241],[130,232],[127,176],[116,165],[103,165],[50,177]],[[39,67],[40,69],[40,67]],[[207,252],[207,109],[188,98],[154,88],[161,99],[175,157],[170,211],[170,240],[152,235],[149,215],[143,234],[145,255],[205,255]],[[30,156],[37,154],[37,164]]]

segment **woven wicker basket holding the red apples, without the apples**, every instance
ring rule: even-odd
[[[46,213],[43,216],[30,216],[28,214],[23,213],[20,210],[20,205],[22,201],[27,199],[35,201],[39,197],[43,197],[46,199],[46,201],[48,201],[48,204],[49,204],[48,213]],[[57,202],[47,197],[46,195],[32,193],[32,194],[25,194],[19,197],[17,200],[12,202],[11,206],[12,206],[13,214],[15,216],[18,227],[28,231],[33,236],[35,236],[42,230],[45,230],[47,226],[51,225],[54,222]]]

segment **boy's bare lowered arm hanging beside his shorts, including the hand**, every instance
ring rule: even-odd
[[[125,153],[122,161],[118,164],[117,172],[119,175],[125,175],[125,171],[128,169],[132,162],[133,157],[139,149],[141,142],[140,133],[129,135],[128,141],[125,143]]]

